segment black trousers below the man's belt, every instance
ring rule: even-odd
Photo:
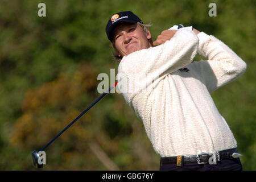
[[[239,158],[224,159],[217,164],[188,163],[183,166],[176,164],[160,164],[160,171],[242,171],[242,164]]]

